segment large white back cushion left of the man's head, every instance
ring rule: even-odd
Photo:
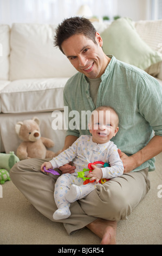
[[[43,24],[14,23],[11,28],[10,80],[70,77],[76,70],[54,47],[55,28]]]

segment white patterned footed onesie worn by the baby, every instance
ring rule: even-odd
[[[88,169],[88,164],[96,161],[109,163],[111,167],[101,167],[105,179],[112,179],[121,176],[124,172],[122,161],[118,154],[116,145],[109,141],[104,144],[97,144],[92,141],[92,136],[82,135],[71,147],[50,161],[53,168],[59,168],[66,163],[73,161],[76,167],[73,174],[62,174],[56,181],[54,198],[58,210],[54,212],[53,218],[60,220],[70,216],[69,206],[75,200],[84,198],[95,189],[95,182],[83,185],[83,179],[78,178],[77,172]],[[88,174],[85,173],[85,176]]]

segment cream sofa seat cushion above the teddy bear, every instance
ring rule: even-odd
[[[1,112],[29,113],[63,109],[63,88],[68,78],[16,80],[1,91]]]

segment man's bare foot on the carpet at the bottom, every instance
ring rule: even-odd
[[[115,245],[116,244],[116,221],[107,221],[101,218],[96,219],[87,225],[94,234],[98,235],[101,240],[101,245]]]

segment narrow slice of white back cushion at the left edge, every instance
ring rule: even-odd
[[[0,80],[9,79],[10,27],[0,25]]]

